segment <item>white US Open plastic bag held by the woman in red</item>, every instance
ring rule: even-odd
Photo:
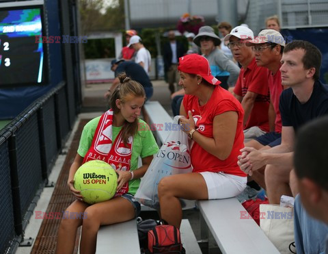
[[[190,173],[193,170],[188,136],[178,125],[179,117],[174,117],[172,131],[154,156],[135,194],[139,203],[154,209],[159,209],[159,181],[168,175]]]

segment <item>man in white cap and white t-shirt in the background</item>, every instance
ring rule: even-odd
[[[143,46],[140,36],[132,36],[128,47],[133,47],[133,49],[137,51],[137,54],[135,55],[135,62],[140,64],[149,75],[152,57],[148,49]]]

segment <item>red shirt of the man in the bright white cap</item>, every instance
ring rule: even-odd
[[[255,58],[251,60],[246,69],[241,68],[234,93],[241,97],[244,97],[247,91],[258,94],[244,129],[258,126],[262,131],[270,130],[268,117],[270,92],[267,77],[267,68],[258,66]]]

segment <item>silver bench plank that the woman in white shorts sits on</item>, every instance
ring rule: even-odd
[[[236,198],[197,205],[222,253],[279,253],[253,219],[241,219],[246,210]]]

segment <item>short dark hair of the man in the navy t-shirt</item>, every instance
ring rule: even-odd
[[[305,70],[308,70],[309,68],[316,68],[316,73],[314,73],[313,79],[315,81],[318,80],[320,77],[320,66],[322,58],[320,50],[306,40],[293,40],[286,45],[284,53],[293,51],[295,49],[303,49],[305,51],[302,59],[304,68]]]

